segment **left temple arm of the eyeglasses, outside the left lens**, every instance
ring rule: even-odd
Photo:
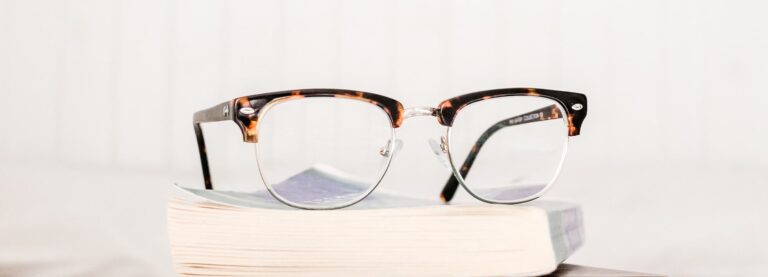
[[[197,138],[197,150],[200,152],[200,164],[203,167],[203,181],[205,189],[213,189],[211,183],[211,172],[208,167],[208,151],[205,148],[205,138],[200,123],[217,122],[232,120],[230,102],[224,102],[208,109],[198,111],[194,114],[192,125],[195,128],[195,137]]]

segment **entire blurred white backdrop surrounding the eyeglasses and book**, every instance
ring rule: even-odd
[[[766,10],[762,1],[2,0],[0,275],[170,274],[168,188],[202,182],[196,110],[296,88],[434,106],[521,86],[589,97],[547,195],[584,207],[587,242],[570,262],[766,275]],[[250,182],[253,153],[238,129],[206,131],[215,181]],[[436,197],[449,173],[426,140],[442,132],[434,119],[406,121],[381,188]]]

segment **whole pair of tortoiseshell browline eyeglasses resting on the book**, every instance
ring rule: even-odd
[[[585,95],[546,89],[480,91],[437,108],[404,108],[367,92],[304,89],[239,97],[196,112],[194,129],[205,189],[214,185],[200,123],[234,121],[243,141],[255,145],[259,175],[272,196],[292,207],[337,209],[380,183],[402,144],[395,130],[405,119],[432,116],[446,131],[431,146],[453,171],[441,199],[451,201],[461,185],[479,200],[516,204],[554,183],[568,138],[579,134],[586,114]],[[315,185],[318,169],[338,185]]]

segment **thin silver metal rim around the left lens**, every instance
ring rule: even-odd
[[[308,98],[312,98],[312,97],[284,99],[284,100],[281,100],[281,101],[280,101],[280,99],[277,99],[280,102],[274,103],[272,105],[265,106],[264,110],[259,112],[259,118],[264,118],[263,116],[266,115],[269,110],[271,110],[272,108],[277,106],[277,104],[279,104],[279,103],[290,101],[290,100],[297,100],[298,101],[298,100],[308,99]],[[357,101],[357,100],[354,100],[354,99],[345,99],[345,100]],[[367,103],[367,102],[364,102],[364,101],[359,101],[359,102]],[[368,104],[370,104],[370,103],[368,103]],[[373,104],[370,104],[370,105],[373,105]],[[386,111],[381,109],[381,107],[379,107],[379,106],[376,106],[376,105],[373,105],[373,106],[375,106],[378,110],[380,110],[382,113],[384,113],[384,115],[387,116],[386,118],[389,119],[389,116],[387,115]],[[396,133],[395,133],[395,128],[393,128],[390,125],[389,129],[391,130],[390,140],[394,142],[397,139]],[[390,151],[390,153],[394,153],[395,145],[396,145],[396,143],[390,143],[389,144],[389,151]],[[387,157],[386,165],[384,166],[384,170],[381,172],[380,176],[378,177],[378,180],[376,180],[376,183],[373,186],[371,186],[367,191],[365,191],[365,193],[362,193],[359,197],[355,198],[354,200],[346,202],[346,203],[343,203],[341,205],[333,205],[333,206],[323,207],[323,206],[309,206],[309,205],[298,204],[298,203],[295,203],[295,202],[290,201],[288,199],[285,199],[284,197],[280,196],[279,193],[275,192],[272,189],[272,186],[267,184],[267,180],[264,178],[264,170],[262,170],[262,168],[261,168],[261,162],[260,162],[260,159],[259,159],[259,150],[258,150],[259,149],[259,143],[258,142],[254,146],[254,149],[255,149],[254,152],[256,152],[256,167],[259,170],[259,178],[261,179],[261,182],[264,184],[264,186],[267,188],[267,192],[269,192],[269,194],[272,195],[272,197],[277,199],[277,201],[280,201],[281,203],[283,203],[285,205],[288,205],[288,206],[294,207],[294,208],[298,208],[298,209],[305,209],[305,210],[335,210],[335,209],[346,208],[346,207],[352,206],[354,204],[357,204],[358,202],[360,202],[363,199],[365,199],[366,197],[368,197],[368,195],[370,195],[376,189],[376,187],[379,186],[381,181],[384,179],[384,175],[387,175],[387,171],[389,171],[389,165],[392,163],[392,158],[395,156],[395,155],[389,155]]]

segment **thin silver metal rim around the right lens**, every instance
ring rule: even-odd
[[[550,98],[550,97],[544,97],[544,96],[506,96],[506,97],[541,97],[541,98],[547,98],[547,99],[550,99],[550,100],[554,101],[560,107],[560,109],[564,112],[564,114],[567,116],[567,111],[565,110],[563,104],[560,103],[560,101],[557,101],[557,99],[553,99],[553,98]],[[456,121],[454,120],[454,123],[455,122]],[[486,202],[486,203],[491,203],[491,204],[520,204],[520,203],[525,203],[525,202],[536,200],[537,198],[539,198],[539,197],[543,196],[544,194],[546,194],[546,192],[552,187],[552,185],[557,181],[557,178],[560,176],[560,170],[563,169],[563,164],[565,163],[565,155],[568,153],[568,140],[569,140],[569,136],[568,136],[568,122],[566,120],[563,120],[563,124],[565,125],[565,128],[563,128],[565,130],[565,141],[563,142],[563,153],[560,155],[560,162],[558,162],[557,169],[555,170],[555,174],[554,174],[554,176],[552,176],[552,178],[549,180],[547,185],[544,186],[543,189],[541,189],[540,191],[538,191],[537,193],[535,193],[535,194],[533,194],[531,196],[528,196],[528,197],[525,197],[525,198],[521,198],[521,199],[518,199],[518,200],[513,200],[513,201],[497,201],[497,200],[492,200],[492,199],[485,199],[485,198],[475,194],[472,191],[472,189],[470,189],[470,185],[467,185],[465,180],[464,180],[464,178],[461,177],[461,174],[459,173],[459,170],[457,169],[455,163],[453,162],[453,155],[451,154],[451,127],[450,126],[447,127],[446,131],[445,131],[445,138],[446,138],[446,141],[447,141],[446,142],[446,147],[447,147],[447,152],[448,152],[447,153],[448,154],[448,164],[451,165],[451,171],[453,172],[453,176],[456,177],[456,180],[459,181],[459,184],[461,184],[461,187],[464,188],[464,190],[466,190],[467,193],[472,195],[472,197],[474,197],[475,199],[478,199],[478,200]]]

